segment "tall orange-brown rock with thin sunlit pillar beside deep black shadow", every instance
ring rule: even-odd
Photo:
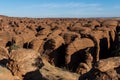
[[[109,31],[107,30],[94,30],[91,31],[89,33],[82,33],[82,35],[84,35],[86,38],[90,38],[93,40],[94,44],[95,44],[95,55],[94,55],[94,60],[98,61],[100,58],[100,51],[101,51],[101,46],[100,44],[106,44],[106,49],[110,48],[110,35],[109,35]],[[104,47],[104,46],[102,46]],[[102,48],[103,49],[103,48]]]

